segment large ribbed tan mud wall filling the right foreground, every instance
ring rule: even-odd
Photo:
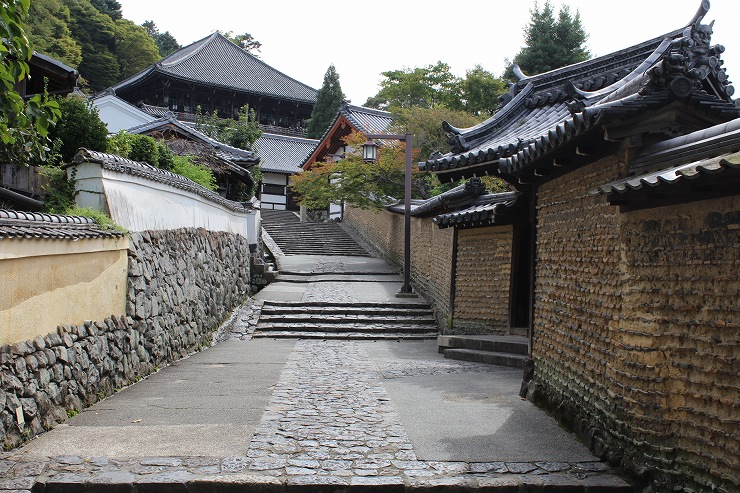
[[[541,185],[530,396],[653,491],[737,491],[737,198],[620,212],[620,157]]]

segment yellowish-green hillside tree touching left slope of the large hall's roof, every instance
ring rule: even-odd
[[[115,50],[121,77],[141,72],[159,60],[159,48],[146,29],[127,19],[115,23]]]

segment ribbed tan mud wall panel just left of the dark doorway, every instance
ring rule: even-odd
[[[511,226],[458,232],[452,333],[508,332],[512,238]]]

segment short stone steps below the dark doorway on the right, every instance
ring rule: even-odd
[[[514,368],[524,368],[527,362],[528,340],[517,335],[440,335],[437,345],[439,352],[448,359]]]

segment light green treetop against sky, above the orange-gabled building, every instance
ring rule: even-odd
[[[459,80],[443,62],[414,69],[391,70],[382,73],[385,79],[380,91],[365,102],[371,108],[434,108],[445,105],[457,96]]]

